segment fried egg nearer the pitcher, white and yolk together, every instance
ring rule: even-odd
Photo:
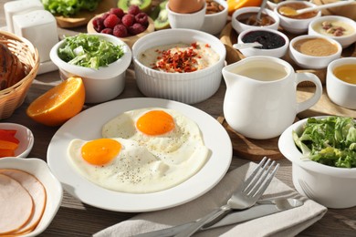
[[[103,126],[102,137],[135,140],[167,165],[191,162],[200,169],[208,157],[197,124],[174,109],[141,108],[124,112]]]

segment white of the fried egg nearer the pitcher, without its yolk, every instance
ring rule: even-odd
[[[149,136],[136,129],[136,121],[151,110],[163,110],[170,114],[174,119],[175,128],[159,136]],[[203,136],[197,124],[174,109],[141,108],[124,112],[107,122],[102,128],[101,135],[103,138],[135,140],[168,165],[191,162],[202,167],[208,156],[208,149],[204,146]]]

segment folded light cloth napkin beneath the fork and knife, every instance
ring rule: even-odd
[[[131,236],[199,219],[209,211],[224,205],[237,186],[248,177],[256,166],[256,163],[249,162],[236,170],[231,170],[214,189],[194,201],[167,210],[140,213],[128,221],[120,222],[95,233],[94,237]],[[198,232],[194,236],[295,236],[298,232],[318,222],[327,211],[326,207],[300,196],[285,183],[274,178],[262,199],[271,200],[276,197],[293,197],[305,202],[298,208],[277,212],[248,222]]]

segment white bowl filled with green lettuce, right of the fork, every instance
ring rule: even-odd
[[[305,118],[282,133],[278,148],[292,162],[293,184],[300,194],[328,208],[356,206],[354,118]]]

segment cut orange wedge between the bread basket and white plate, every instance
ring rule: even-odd
[[[85,88],[80,77],[69,77],[49,89],[27,108],[29,118],[47,126],[58,126],[77,115],[83,108]]]

